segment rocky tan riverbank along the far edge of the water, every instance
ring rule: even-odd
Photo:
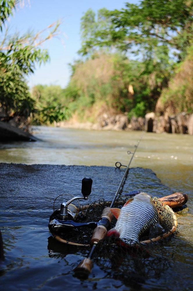
[[[127,114],[101,115],[96,123],[79,122],[73,117],[69,121],[54,123],[57,127],[87,130],[145,130],[155,133],[181,133],[193,135],[193,114],[180,113],[176,116],[156,116],[147,113],[145,118],[132,117],[130,122]]]

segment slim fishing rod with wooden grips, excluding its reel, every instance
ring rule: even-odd
[[[93,267],[93,262],[92,262],[92,256],[94,254],[94,251],[95,251],[95,248],[96,248],[96,245],[98,244],[98,242],[101,240],[101,239],[104,239],[106,237],[106,234],[107,234],[107,231],[108,231],[108,228],[110,227],[110,224],[111,224],[111,221],[114,217],[114,215],[112,214],[112,212],[110,211],[110,208],[112,208],[112,206],[114,205],[115,203],[115,200],[119,194],[119,191],[123,185],[123,182],[128,174],[128,171],[129,171],[129,166],[132,162],[132,159],[135,155],[135,152],[140,144],[140,141],[142,140],[142,137],[143,137],[143,134],[140,136],[140,139],[137,141],[137,145],[134,145],[134,148],[135,150],[133,152],[131,151],[127,151],[127,154],[128,155],[132,155],[131,156],[131,159],[128,163],[128,166],[124,166],[122,165],[120,162],[116,162],[115,166],[116,168],[120,168],[121,166],[124,166],[126,167],[126,170],[125,170],[125,173],[123,175],[123,178],[119,184],[119,187],[117,188],[117,191],[115,193],[115,196],[112,200],[112,203],[110,205],[110,207],[106,207],[104,208],[102,214],[101,214],[101,217],[100,217],[100,221],[99,221],[99,224],[96,226],[96,228],[94,228],[94,231],[92,233],[92,238],[90,240],[90,246],[92,246],[92,249],[88,255],[87,258],[84,258],[80,264],[74,269],[74,273],[75,273],[75,276],[78,277],[78,278],[87,278],[88,275],[90,274],[91,270],[92,270],[92,267]]]

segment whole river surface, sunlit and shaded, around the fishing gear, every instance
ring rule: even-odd
[[[83,253],[67,252],[65,248],[62,251],[61,246],[54,249],[47,224],[53,200],[64,190],[62,181],[65,179],[65,188],[74,194],[76,188],[81,187],[83,174],[96,177],[94,195],[107,195],[104,189],[108,189],[107,198],[113,197],[124,174],[124,170],[115,172],[115,162],[128,164],[131,155],[126,153],[133,152],[141,132],[56,127],[34,127],[33,130],[39,139],[37,142],[0,144],[0,162],[8,163],[1,164],[0,168],[1,196],[5,198],[1,199],[1,230],[6,254],[0,279],[2,290],[53,290],[54,286],[66,286],[66,290],[193,290],[193,136],[144,133],[131,162],[132,169],[124,186],[128,191],[138,186],[159,197],[177,191],[186,192],[189,197],[189,210],[177,214],[177,235],[168,242],[152,246],[156,255],[169,258],[170,267],[163,270],[159,278],[153,275],[144,278],[135,288],[133,283],[107,276],[99,266],[86,281],[74,278],[72,269],[77,257],[79,261],[84,257]],[[149,170],[136,167],[151,169],[157,177]],[[38,239],[38,244],[33,238]],[[60,271],[58,262],[62,265]]]

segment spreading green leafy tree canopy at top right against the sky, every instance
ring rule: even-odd
[[[139,5],[126,3],[121,10],[106,10],[103,15],[110,24],[85,39],[80,53],[115,47],[125,52],[133,49],[136,54],[143,52],[149,58],[157,56],[155,49],[160,47],[163,53],[173,48],[179,59],[184,58],[192,43],[192,8],[192,0],[143,0]]]

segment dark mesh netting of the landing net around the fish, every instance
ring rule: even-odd
[[[121,208],[127,200],[128,198],[119,198],[115,201],[114,205],[117,208]],[[175,225],[172,210],[170,211],[168,207],[163,206],[156,197],[153,198],[153,203],[159,212],[160,225],[165,229],[165,233],[169,233]],[[110,206],[110,204],[111,201],[100,199],[84,206],[86,211],[84,222],[99,221],[104,207]],[[115,226],[116,221],[114,217],[111,228]],[[69,242],[78,242],[84,246],[89,246],[92,232],[93,230],[89,228],[78,228],[73,229],[67,234],[61,234],[61,237]],[[158,237],[161,237],[161,235],[155,233],[151,237],[142,237],[140,241],[152,241],[153,246],[156,247],[156,244],[159,243],[157,241],[154,242],[153,239]],[[159,246],[160,251],[161,244]],[[79,252],[86,257],[89,250],[90,248],[81,248]],[[140,284],[144,283],[148,278],[158,279],[170,267],[169,258],[164,257],[160,253],[155,255],[152,244],[151,247],[149,243],[139,243],[133,246],[132,241],[120,241],[113,236],[106,237],[96,245],[92,260],[94,264],[98,265],[106,273],[106,278],[120,280],[130,287],[133,284],[135,288],[137,287],[136,284],[139,284],[140,288]]]

